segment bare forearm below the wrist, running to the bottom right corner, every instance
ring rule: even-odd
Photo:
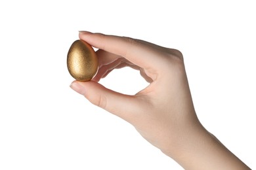
[[[250,169],[203,127],[193,131],[169,155],[184,169]]]

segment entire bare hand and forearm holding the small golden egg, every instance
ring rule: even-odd
[[[198,120],[181,52],[86,31],[79,38],[99,49],[99,69],[89,82],[72,82],[75,92],[132,124],[184,169],[249,169]],[[135,95],[125,95],[98,83],[113,69],[127,66],[138,69],[150,85]]]

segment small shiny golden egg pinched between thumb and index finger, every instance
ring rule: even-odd
[[[89,81],[98,71],[98,58],[95,50],[85,41],[73,42],[68,50],[68,71],[75,80]]]

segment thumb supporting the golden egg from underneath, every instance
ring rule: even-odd
[[[75,92],[84,95],[94,105],[112,112],[127,122],[131,122],[138,116],[137,113],[141,106],[139,99],[133,95],[114,92],[95,81],[74,81],[70,87]]]

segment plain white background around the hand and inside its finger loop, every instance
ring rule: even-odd
[[[66,54],[79,30],[181,50],[203,126],[255,169],[254,4],[1,1],[0,169],[182,169],[70,89]],[[128,94],[147,85],[129,68],[100,82]]]

